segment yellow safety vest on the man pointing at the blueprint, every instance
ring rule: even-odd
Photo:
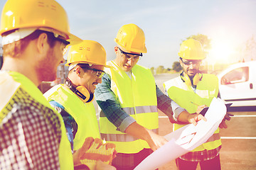
[[[130,79],[113,61],[107,64],[112,66],[105,71],[110,74],[111,89],[117,96],[122,110],[132,116],[139,125],[158,133],[156,84],[150,69],[137,64],[132,68],[132,79]],[[117,130],[102,111],[100,133],[102,139],[116,145],[119,153],[132,154],[150,148],[146,141]]]

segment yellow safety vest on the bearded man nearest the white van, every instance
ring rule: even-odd
[[[196,93],[191,86],[187,86],[181,77],[176,77],[164,82],[164,89],[169,94],[169,97],[174,100],[179,106],[185,108],[188,113],[196,113],[198,106],[193,103],[210,106],[210,102],[214,97],[218,96],[218,78],[213,74],[203,74],[201,81],[196,86]],[[193,103],[191,103],[191,101]],[[183,127],[174,123],[174,130]],[[192,152],[202,151],[204,149],[215,149],[221,145],[219,129],[203,143],[203,145],[196,147]]]

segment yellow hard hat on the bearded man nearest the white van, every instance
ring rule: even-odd
[[[203,60],[206,58],[201,43],[193,39],[182,42],[178,56],[186,60]]]

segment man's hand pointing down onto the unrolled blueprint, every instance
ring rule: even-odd
[[[166,138],[160,135],[157,135],[151,130],[148,130],[148,131],[149,131],[149,137],[146,139],[146,142],[149,144],[149,147],[151,147],[153,151],[155,151],[156,149],[159,149],[159,147],[165,145],[166,142],[168,142]]]

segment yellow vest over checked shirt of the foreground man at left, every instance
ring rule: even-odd
[[[18,72],[0,72],[0,77],[4,81],[4,83],[0,84],[0,89],[4,89],[4,101],[1,101],[1,108],[0,108],[0,115],[2,115],[2,111],[4,106],[6,106],[9,101],[11,101],[12,96],[16,93],[18,89],[25,90],[30,96],[32,96],[38,103],[43,104],[53,110],[53,113],[58,115],[59,122],[60,122],[60,129],[61,129],[61,140],[59,145],[59,162],[60,162],[60,169],[74,169],[73,165],[73,155],[71,153],[70,142],[68,141],[68,137],[66,135],[65,125],[63,123],[63,118],[60,114],[58,114],[54,108],[50,106],[46,98],[43,97],[41,91],[33,84],[31,80],[25,77],[23,74]],[[5,116],[5,115],[4,115]],[[0,116],[1,117],[1,116]],[[1,120],[0,120],[1,121]]]

